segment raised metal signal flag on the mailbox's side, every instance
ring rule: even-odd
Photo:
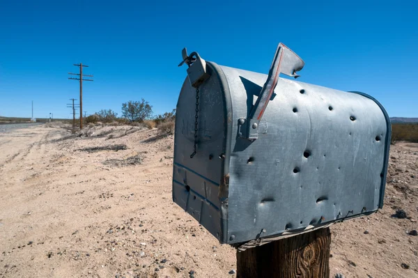
[[[296,72],[302,70],[303,66],[304,61],[295,52],[283,43],[277,45],[267,80],[261,89],[256,104],[252,107],[247,119],[240,118],[238,121],[238,137],[251,141],[258,138],[258,125],[272,97],[274,88],[277,86],[280,73],[297,78],[299,75],[296,75]]]

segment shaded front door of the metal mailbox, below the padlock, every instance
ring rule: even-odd
[[[207,63],[210,75],[199,86],[197,144],[194,151],[196,88],[188,77],[176,107],[173,157],[173,201],[192,215],[220,242],[226,242],[231,153],[231,97],[222,70]],[[225,170],[226,169],[226,170]]]

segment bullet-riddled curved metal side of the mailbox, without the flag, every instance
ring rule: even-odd
[[[228,242],[298,233],[375,212],[390,125],[369,97],[279,79],[258,139],[238,138],[267,75],[221,67],[233,103]]]

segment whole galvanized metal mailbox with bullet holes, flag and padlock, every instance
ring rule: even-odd
[[[183,60],[173,201],[220,242],[257,245],[382,208],[391,129],[377,100],[279,78],[304,66],[283,44],[269,75],[185,49]]]

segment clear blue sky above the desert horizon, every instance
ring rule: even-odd
[[[0,115],[68,118],[90,65],[84,111],[145,98],[176,107],[181,49],[268,73],[277,43],[305,61],[300,81],[363,91],[389,116],[418,117],[417,1],[0,0]]]

